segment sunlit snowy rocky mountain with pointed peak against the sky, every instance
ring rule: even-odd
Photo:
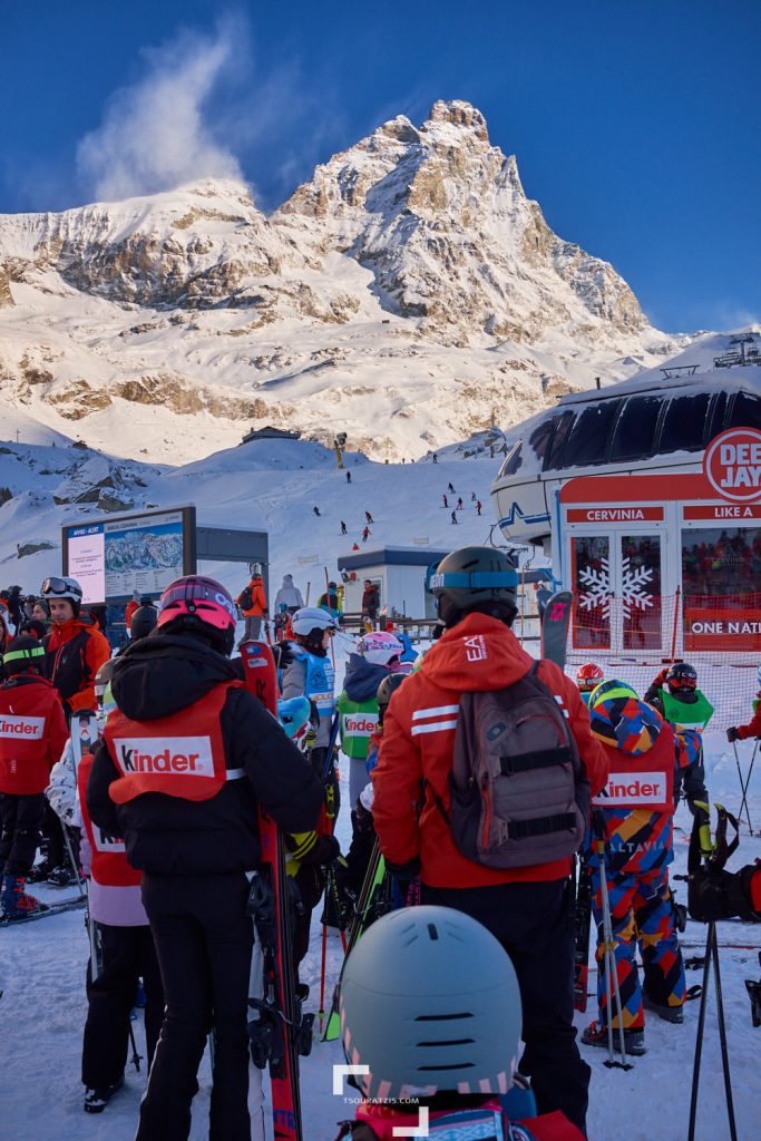
[[[0,217],[0,399],[127,455],[188,460],[245,422],[414,456],[683,343],[552,233],[459,100],[383,123],[270,216],[205,180]]]

